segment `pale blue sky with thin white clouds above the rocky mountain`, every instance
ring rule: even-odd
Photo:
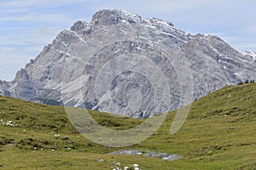
[[[256,51],[254,0],[13,0],[0,1],[0,79],[35,59],[76,20],[90,21],[102,8],[123,9],[143,19],[170,20],[186,33],[212,34],[238,51]]]

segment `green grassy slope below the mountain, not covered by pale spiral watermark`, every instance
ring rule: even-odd
[[[114,129],[143,122],[97,111],[90,114]],[[124,166],[137,163],[144,170],[256,169],[256,84],[226,87],[198,99],[183,127],[171,135],[174,116],[175,111],[168,113],[160,129],[140,144],[109,148],[79,134],[62,107],[0,96],[0,169],[111,169],[113,161]],[[107,154],[122,149],[173,153],[184,159]]]

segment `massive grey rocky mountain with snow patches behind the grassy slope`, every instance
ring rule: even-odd
[[[61,31],[13,82],[0,82],[0,94],[143,118],[256,79],[255,71],[253,58],[219,37],[106,9]]]

